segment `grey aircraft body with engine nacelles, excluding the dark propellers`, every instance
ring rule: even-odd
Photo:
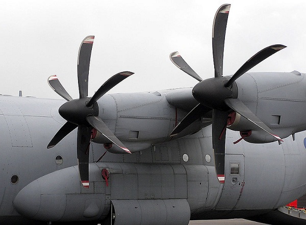
[[[265,74],[268,80],[263,83],[257,78],[264,73],[245,74],[238,80],[239,98],[284,143],[249,143],[259,140],[250,136],[249,142],[234,145],[239,132],[228,130],[224,184],[216,176],[209,116],[195,121],[185,133],[169,137],[196,104],[191,88],[101,97],[99,116],[133,154],[107,152],[96,162],[106,149],[93,140],[89,189],[80,183],[76,166],[76,131],[54,148],[46,148],[65,123],[58,114],[65,101],[0,96],[0,221],[21,216],[43,221],[102,220],[110,215],[111,206],[125,215],[123,206],[134,204],[129,213],[138,215],[134,210],[138,206],[162,204],[168,216],[173,213],[173,221],[180,215],[184,224],[190,218],[247,217],[286,205],[306,193],[306,133],[300,132],[306,124],[302,111],[306,95],[305,88],[299,91],[306,82],[304,74],[281,73],[278,81],[273,76],[280,73]],[[269,79],[274,86],[269,86]],[[186,104],[176,105],[173,95]],[[258,136],[259,142],[271,142],[270,137]],[[108,185],[103,169],[109,172]],[[171,211],[172,205],[181,211]],[[155,216],[158,210],[153,207],[151,212]]]

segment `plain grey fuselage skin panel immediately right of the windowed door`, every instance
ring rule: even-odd
[[[287,141],[291,140],[285,139],[282,145]],[[282,145],[277,142],[267,143],[265,147],[246,142],[240,145],[245,156],[245,183],[235,209],[258,210],[263,208],[263,204],[267,208],[274,208],[284,185],[285,159]]]

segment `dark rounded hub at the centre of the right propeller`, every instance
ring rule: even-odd
[[[236,83],[231,87],[224,87],[228,79],[226,77],[210,78],[196,84],[192,89],[192,95],[202,105],[211,109],[227,110],[224,103],[226,98],[237,98],[238,89]]]

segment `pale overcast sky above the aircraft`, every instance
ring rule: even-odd
[[[0,93],[61,98],[47,84],[57,74],[78,97],[81,41],[95,35],[89,95],[117,72],[133,76],[110,92],[191,87],[197,81],[169,60],[179,51],[203,78],[214,76],[212,22],[232,4],[224,49],[224,74],[233,74],[271,44],[288,47],[250,71],[306,72],[305,1],[2,1]]]

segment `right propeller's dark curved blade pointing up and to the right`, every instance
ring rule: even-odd
[[[236,81],[243,73],[245,73],[249,69],[253,68],[269,56],[272,56],[274,53],[278,52],[279,50],[282,50],[285,47],[287,46],[282,44],[274,44],[262,49],[261,51],[253,55],[248,61],[246,61],[224,86],[230,87],[234,83],[234,81]]]

